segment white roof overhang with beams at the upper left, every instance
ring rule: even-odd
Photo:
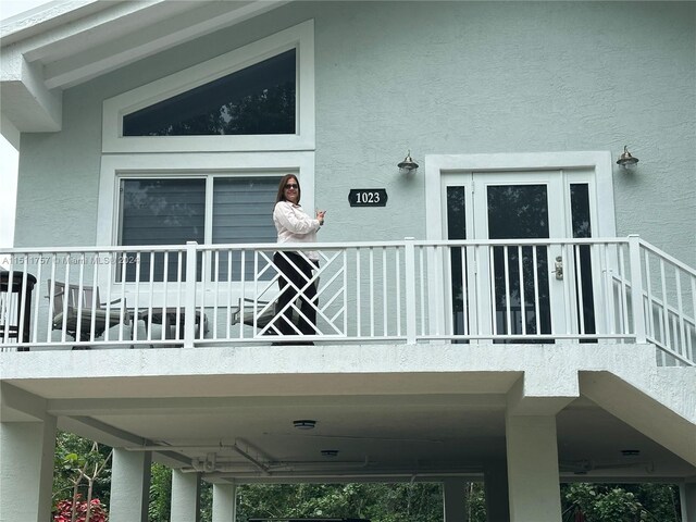
[[[289,0],[57,0],[0,25],[2,135],[57,132],[62,92]]]

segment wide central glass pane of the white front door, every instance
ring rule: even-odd
[[[488,186],[487,204],[490,239],[549,237],[546,185]],[[549,334],[546,247],[494,247],[493,258],[496,333]]]

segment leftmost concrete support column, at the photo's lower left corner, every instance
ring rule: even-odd
[[[0,522],[51,519],[55,418],[0,422]]]

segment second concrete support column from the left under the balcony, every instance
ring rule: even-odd
[[[150,451],[114,448],[109,522],[147,522],[151,463]]]

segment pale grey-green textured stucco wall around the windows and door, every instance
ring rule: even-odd
[[[325,240],[425,237],[425,154],[610,150],[617,232],[696,265],[696,3],[307,2],[63,94],[63,130],[22,136],[15,246],[96,239],[102,101],[315,22],[315,202]],[[233,166],[233,165],[231,165]],[[348,206],[386,188],[385,208]]]

